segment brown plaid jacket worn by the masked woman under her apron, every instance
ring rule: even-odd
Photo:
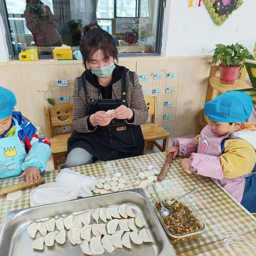
[[[148,109],[143,97],[141,85],[139,83],[138,75],[134,72],[134,84],[130,81],[129,70],[126,70],[126,103],[127,107],[131,108],[134,112],[133,125],[140,125],[148,119]],[[86,80],[86,87],[88,96],[90,99],[102,99],[99,90]],[[121,98],[122,79],[113,83],[112,90],[114,91],[112,99]],[[90,99],[84,89],[82,88],[78,92],[78,79],[74,80],[74,92],[73,92],[73,126],[77,132],[93,132],[88,129],[87,118],[89,117],[88,108]],[[116,98],[115,98],[116,97]]]

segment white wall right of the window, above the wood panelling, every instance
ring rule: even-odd
[[[218,43],[238,42],[249,51],[253,50],[256,40],[255,0],[245,0],[221,26],[215,25],[203,2],[198,7],[196,0],[191,8],[188,3],[188,0],[166,0],[164,56],[209,55]]]

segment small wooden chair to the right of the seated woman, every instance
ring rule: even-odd
[[[141,125],[141,130],[145,142],[143,155],[147,152],[147,144],[151,143],[152,147],[156,146],[162,152],[168,148],[170,133],[167,132],[162,126],[156,124],[157,117],[157,97],[145,96],[146,105],[148,108],[148,114],[153,117],[152,123],[146,123]],[[163,139],[163,146],[161,146],[156,140]]]

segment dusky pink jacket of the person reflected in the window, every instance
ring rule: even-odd
[[[56,22],[49,6],[44,5],[44,14],[41,15],[42,23],[35,25],[34,21],[39,19],[38,15],[31,13],[27,8],[24,12],[27,28],[34,35],[38,46],[52,46],[61,40],[61,36],[56,29]]]

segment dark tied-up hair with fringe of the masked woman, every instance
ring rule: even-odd
[[[101,29],[97,23],[84,26],[83,34],[80,51],[83,56],[85,69],[87,69],[86,61],[98,50],[103,52],[105,58],[112,56],[117,60],[118,51],[113,37],[107,31]]]

